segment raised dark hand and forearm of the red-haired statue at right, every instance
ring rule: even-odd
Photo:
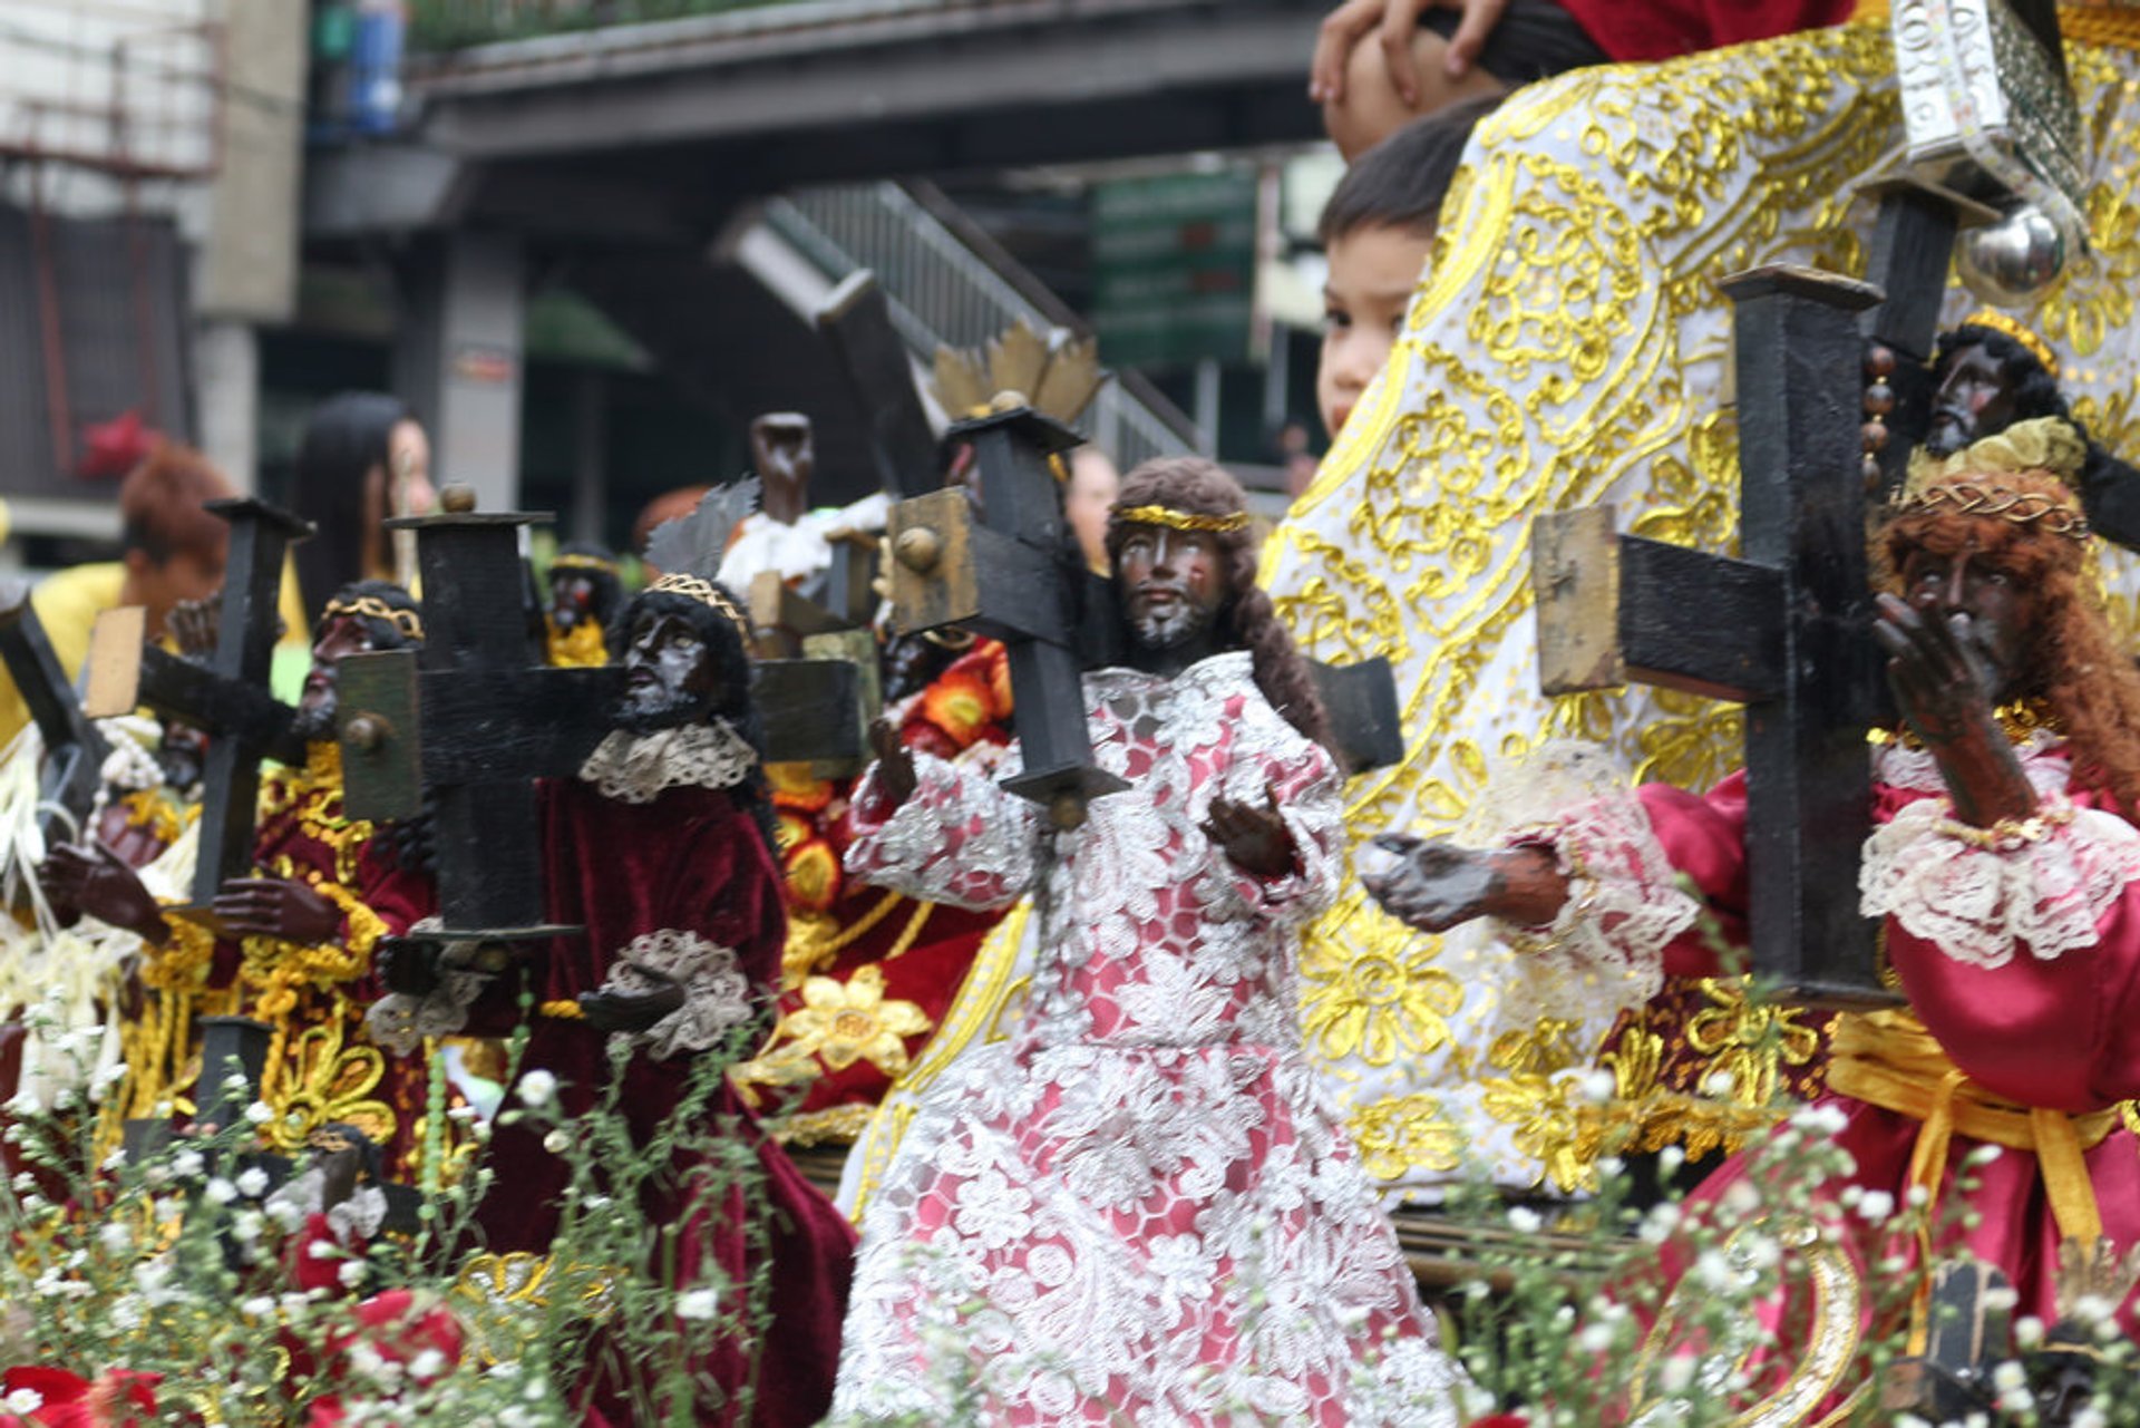
[[[1969,614],[1939,619],[1881,595],[1872,638],[1887,653],[1894,702],[1939,762],[1954,816],[1988,829],[2033,814],[2035,788],[1992,717],[1994,666]]]

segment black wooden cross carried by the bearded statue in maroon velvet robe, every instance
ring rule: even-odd
[[[535,662],[518,531],[548,514],[482,514],[467,488],[449,488],[441,505],[437,516],[389,522],[417,533],[422,651],[340,664],[345,807],[353,818],[432,814],[443,927],[428,940],[569,933],[544,923],[535,779],[571,777],[610,734],[623,666]],[[860,758],[845,662],[758,670],[753,692],[768,758]]]

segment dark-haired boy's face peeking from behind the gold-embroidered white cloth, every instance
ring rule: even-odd
[[[1331,441],[1389,360],[1419,270],[1434,253],[1442,199],[1464,146],[1498,103],[1498,94],[1470,98],[1406,124],[1367,150],[1323,206],[1316,236],[1329,255],[1329,276],[1323,283],[1316,409]]]

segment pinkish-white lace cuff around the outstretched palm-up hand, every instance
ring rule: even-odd
[[[1537,1015],[1588,1019],[1605,998],[1614,1008],[1641,1006],[1665,985],[1665,946],[1701,916],[1680,886],[1650,814],[1633,792],[1611,792],[1562,818],[1511,833],[1509,848],[1552,848],[1569,880],[1569,899],[1545,927],[1502,923],[1526,970],[1515,993]]]

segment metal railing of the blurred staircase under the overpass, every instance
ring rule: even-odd
[[[927,184],[809,188],[764,206],[766,225],[830,280],[877,274],[892,323],[922,362],[980,347],[1021,317],[1085,323]],[[1102,353],[1104,355],[1104,353]],[[1136,373],[1117,373],[1076,422],[1121,469],[1196,450],[1194,424]]]

